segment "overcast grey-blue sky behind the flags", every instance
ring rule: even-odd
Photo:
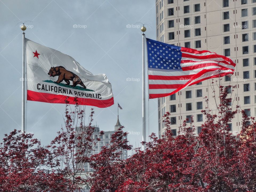
[[[125,131],[135,132],[128,140],[138,146],[142,140],[140,27],[142,23],[148,24],[146,36],[155,39],[154,0],[0,0],[0,18],[1,139],[5,133],[21,129],[22,31],[19,26],[25,22],[26,38],[70,55],[93,74],[107,75],[115,104],[103,109],[94,107],[93,124],[97,123],[103,131],[114,130],[119,102],[123,108],[119,110],[119,120]],[[158,135],[157,99],[149,101],[149,110],[146,104],[146,135],[149,132]],[[88,116],[91,106],[86,108]],[[28,101],[27,132],[33,132],[42,144],[48,144],[63,125],[64,112],[64,104]]]

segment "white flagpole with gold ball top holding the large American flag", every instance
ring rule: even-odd
[[[142,34],[142,141],[146,141],[146,105],[145,105],[145,34],[146,27],[141,27]],[[142,145],[142,151],[145,151]]]

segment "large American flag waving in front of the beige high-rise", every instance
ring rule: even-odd
[[[146,39],[150,99],[172,95],[206,79],[234,74],[235,63],[223,55]]]

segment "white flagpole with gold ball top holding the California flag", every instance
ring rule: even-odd
[[[22,50],[22,126],[21,131],[25,133],[25,104],[26,104],[26,45],[25,45],[25,30],[27,27],[24,25],[21,26],[21,30],[23,31],[23,50]]]

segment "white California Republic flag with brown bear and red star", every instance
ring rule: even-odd
[[[105,74],[93,75],[69,55],[25,39],[27,100],[109,107],[114,104]]]

